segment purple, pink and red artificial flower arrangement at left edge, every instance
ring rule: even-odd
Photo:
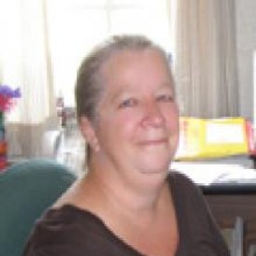
[[[5,113],[10,111],[18,98],[21,97],[19,88],[12,89],[0,84],[0,171],[7,167],[7,140]]]

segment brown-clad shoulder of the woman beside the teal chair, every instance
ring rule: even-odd
[[[92,212],[73,205],[50,209],[36,223],[23,256],[138,256]]]

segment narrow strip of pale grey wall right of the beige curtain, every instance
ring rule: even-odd
[[[252,120],[252,57],[253,50],[256,50],[256,1],[235,0],[235,17],[240,114]]]

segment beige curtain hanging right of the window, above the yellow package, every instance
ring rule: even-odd
[[[239,114],[234,0],[177,0],[175,52],[181,115]]]

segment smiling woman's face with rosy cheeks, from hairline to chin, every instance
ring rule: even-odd
[[[92,126],[96,159],[117,170],[166,172],[178,144],[178,107],[163,56],[121,51],[102,72],[105,88]]]

